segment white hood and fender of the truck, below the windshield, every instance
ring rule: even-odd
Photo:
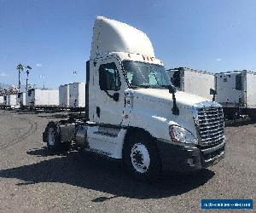
[[[168,89],[128,90],[126,92],[133,97],[130,125],[143,126],[148,132],[153,132],[155,137],[162,139],[170,138],[168,128],[171,124],[180,125],[196,135],[192,106],[199,103],[203,106],[207,99],[177,91],[175,95],[179,115],[174,115],[172,94]]]

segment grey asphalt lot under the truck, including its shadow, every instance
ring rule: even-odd
[[[256,124],[229,123],[225,158],[192,174],[145,183],[119,161],[72,150],[51,155],[49,120],[65,113],[0,111],[0,211],[198,212],[201,199],[255,200]]]

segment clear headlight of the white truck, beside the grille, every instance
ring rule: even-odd
[[[197,143],[194,135],[191,132],[189,132],[189,130],[185,130],[180,126],[171,125],[169,127],[169,132],[170,132],[172,141],[183,142],[183,143],[194,143],[194,144]]]

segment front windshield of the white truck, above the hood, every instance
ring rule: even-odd
[[[166,88],[172,84],[164,66],[124,60],[123,67],[131,88]]]

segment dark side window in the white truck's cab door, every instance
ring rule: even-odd
[[[120,77],[115,63],[102,64],[99,68],[99,84],[102,90],[120,89]]]

